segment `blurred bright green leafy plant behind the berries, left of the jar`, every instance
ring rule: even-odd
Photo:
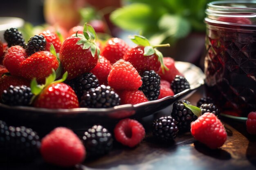
[[[210,0],[126,0],[110,20],[127,31],[142,31],[155,44],[175,43],[191,31],[205,30],[206,4]]]

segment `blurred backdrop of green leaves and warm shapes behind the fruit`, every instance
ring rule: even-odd
[[[151,43],[170,43],[164,56],[200,65],[204,55],[204,10],[210,0],[8,0],[0,3],[0,17],[24,20],[26,40],[45,29],[65,39],[72,27],[89,22],[104,40],[110,36],[146,36]],[[2,24],[0,22],[0,24]],[[3,26],[0,28],[3,29]]]

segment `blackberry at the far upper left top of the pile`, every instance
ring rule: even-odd
[[[8,47],[19,45],[24,46],[25,40],[22,33],[16,28],[7,29],[4,32],[4,40],[8,43]]]

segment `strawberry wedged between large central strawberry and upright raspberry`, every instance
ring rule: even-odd
[[[99,84],[108,84],[108,75],[112,69],[112,64],[103,56],[99,56],[99,62],[91,70],[91,73],[99,79]]]

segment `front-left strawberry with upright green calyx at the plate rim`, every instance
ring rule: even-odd
[[[52,69],[52,74],[45,79],[45,84],[37,84],[36,78],[31,81],[30,88],[34,94],[33,105],[38,108],[78,108],[79,102],[74,90],[63,83],[67,79],[67,72],[61,79],[56,79],[56,73]],[[55,81],[54,81],[55,80]]]

